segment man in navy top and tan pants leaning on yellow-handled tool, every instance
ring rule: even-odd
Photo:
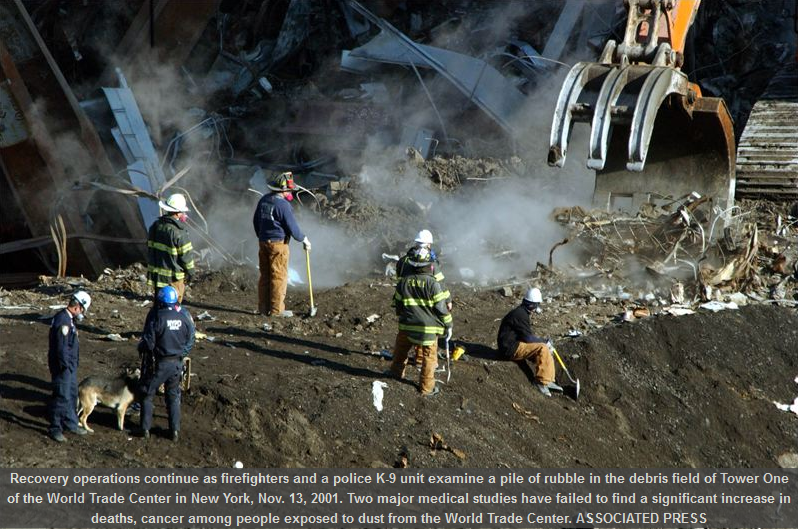
[[[294,199],[294,175],[290,172],[272,176],[270,193],[258,202],[252,225],[258,236],[258,312],[267,316],[290,318],[294,313],[285,310],[288,289],[288,241],[293,237],[310,251],[310,241],[302,233],[291,202]]]

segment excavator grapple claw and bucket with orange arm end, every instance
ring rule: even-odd
[[[732,120],[722,99],[702,97],[679,69],[684,38],[674,28],[686,33],[698,2],[628,4],[624,41],[609,41],[599,62],[580,62],[565,78],[548,163],[562,167],[573,124],[590,123],[587,167],[596,171],[597,205],[636,209],[698,192],[726,211],[734,203]]]

